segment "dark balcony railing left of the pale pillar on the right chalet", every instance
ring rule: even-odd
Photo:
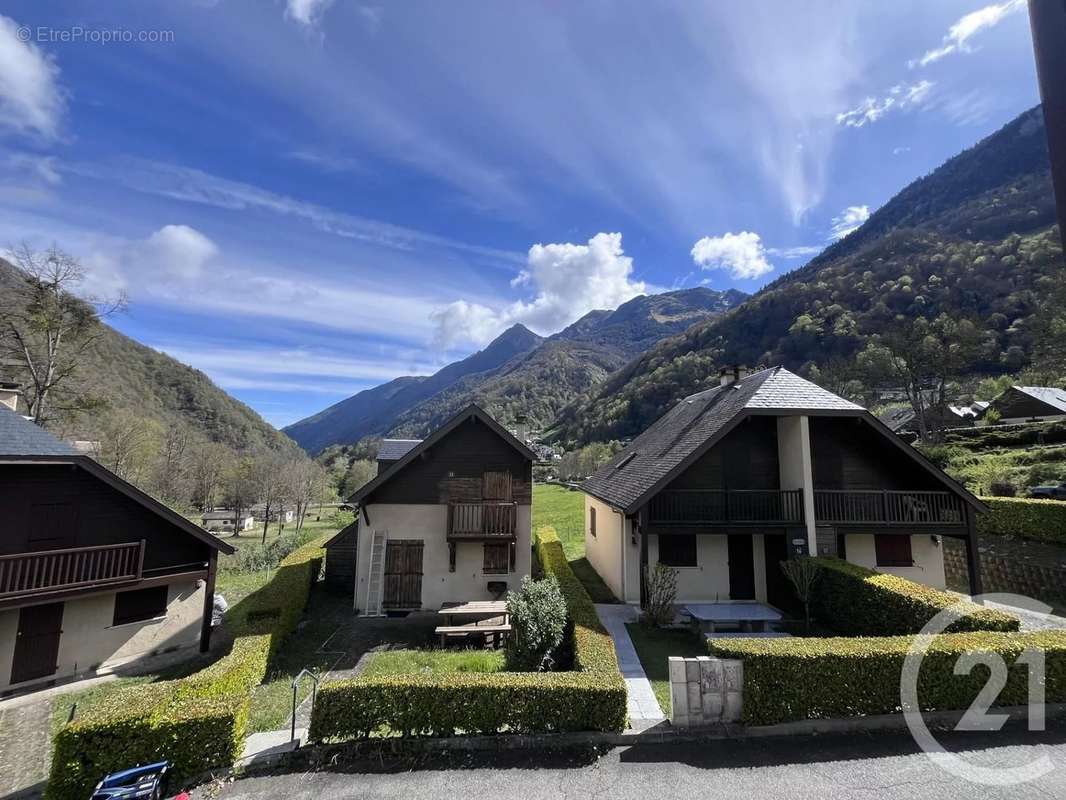
[[[676,490],[651,500],[651,525],[800,525],[801,490]]]

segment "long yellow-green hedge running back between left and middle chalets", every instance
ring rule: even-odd
[[[181,781],[240,757],[252,690],[296,626],[322,563],[322,538],[287,556],[271,581],[235,606],[235,640],[210,667],[130,687],[65,725],[52,748],[48,800],[82,800],[108,772],[163,758]]]

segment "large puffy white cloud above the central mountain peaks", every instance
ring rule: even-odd
[[[633,259],[621,249],[621,234],[597,234],[587,244],[534,244],[514,287],[534,291],[501,309],[457,300],[432,315],[435,342],[484,345],[520,322],[539,334],[552,334],[595,308],[615,308],[648,287],[632,279]]]

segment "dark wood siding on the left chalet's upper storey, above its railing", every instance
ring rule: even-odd
[[[88,473],[65,464],[0,466],[0,555],[145,540],[144,570],[207,563],[211,548]]]

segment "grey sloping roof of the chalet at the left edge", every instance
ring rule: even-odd
[[[74,464],[214,549],[233,551],[217,537],[7,409],[0,409],[0,464]]]

